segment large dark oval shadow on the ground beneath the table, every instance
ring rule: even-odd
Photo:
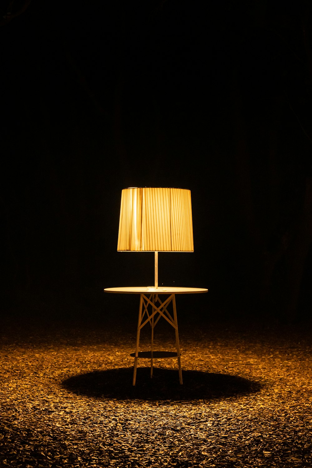
[[[94,371],[73,375],[61,382],[66,390],[77,395],[120,400],[196,400],[228,398],[260,390],[253,380],[236,375],[183,370],[183,385],[178,372],[154,367],[139,367],[136,386],[132,386],[132,367]]]

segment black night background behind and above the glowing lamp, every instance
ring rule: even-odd
[[[103,288],[153,284],[153,254],[117,253],[121,190],[169,186],[194,253],[160,253],[160,284],[208,287],[211,319],[310,319],[310,6],[0,2],[5,316],[127,312]]]

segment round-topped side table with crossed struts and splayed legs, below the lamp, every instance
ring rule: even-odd
[[[208,292],[208,289],[204,288],[183,288],[183,287],[172,287],[162,286],[161,288],[155,288],[153,286],[135,286],[135,287],[117,287],[117,288],[106,288],[105,292],[114,292],[119,294],[140,294],[140,307],[138,312],[138,328],[137,328],[137,343],[135,353],[131,356],[134,357],[134,369],[133,369],[133,380],[132,385],[136,383],[138,358],[151,358],[151,377],[153,375],[153,359],[161,357],[176,357],[178,358],[179,366],[179,380],[182,385],[182,370],[181,370],[181,353],[179,344],[179,331],[177,322],[177,313],[175,306],[175,294],[195,294],[201,292]],[[160,299],[161,296],[161,299]],[[163,298],[163,296],[167,296]],[[173,317],[168,312],[168,306],[172,302]],[[154,340],[154,328],[160,317],[163,317],[175,330],[175,347],[176,353],[162,352],[153,350]],[[147,324],[150,323],[152,329],[151,337],[151,352],[138,352],[140,331]]]

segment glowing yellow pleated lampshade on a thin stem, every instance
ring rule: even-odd
[[[190,190],[122,190],[117,250],[193,252]]]

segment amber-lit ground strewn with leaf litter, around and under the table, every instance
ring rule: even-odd
[[[135,322],[3,324],[1,467],[312,466],[309,329],[185,318],[183,386],[170,358],[132,387]]]

